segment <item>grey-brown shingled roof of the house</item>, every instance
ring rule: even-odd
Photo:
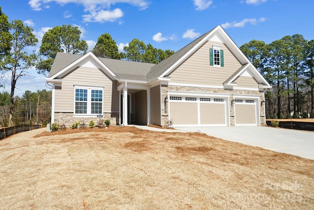
[[[126,60],[117,60],[110,58],[98,57],[101,62],[105,64],[119,79],[137,80],[137,81],[149,81],[162,75],[173,64],[175,64],[180,58],[188,53],[194,46],[196,46],[201,40],[203,40],[212,30],[203,34],[190,44],[186,45],[176,53],[172,54],[168,58],[164,59],[158,64],[134,62]],[[57,74],[59,71],[82,57],[83,55],[69,54],[69,53],[57,53],[54,59],[49,78]]]

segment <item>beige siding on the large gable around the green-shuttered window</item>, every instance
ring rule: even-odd
[[[209,65],[209,48],[220,46],[224,51],[224,67]],[[242,65],[222,43],[207,42],[187,58],[171,75],[171,82],[200,85],[223,85]]]

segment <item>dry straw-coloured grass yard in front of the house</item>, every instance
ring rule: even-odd
[[[314,160],[133,127],[0,141],[0,209],[314,209]]]

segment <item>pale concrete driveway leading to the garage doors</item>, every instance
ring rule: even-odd
[[[176,129],[198,131],[229,141],[314,159],[314,132],[265,126],[178,127]]]

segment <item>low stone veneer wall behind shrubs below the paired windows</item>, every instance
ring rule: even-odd
[[[117,125],[119,123],[119,113],[104,113],[103,118],[98,117],[73,117],[73,112],[54,112],[54,122],[59,123],[60,125],[64,123],[67,128],[71,128],[72,124],[80,121],[84,122],[86,127],[88,127],[89,121],[93,120],[95,122],[95,126],[98,126],[98,122],[100,119],[104,121],[109,119],[110,125]]]

